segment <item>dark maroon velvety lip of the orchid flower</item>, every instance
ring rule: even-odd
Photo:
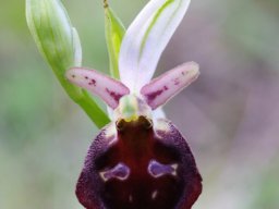
[[[202,177],[185,139],[168,121],[156,130],[141,116],[121,121],[114,138],[105,127],[93,142],[76,196],[87,209],[191,209]]]

